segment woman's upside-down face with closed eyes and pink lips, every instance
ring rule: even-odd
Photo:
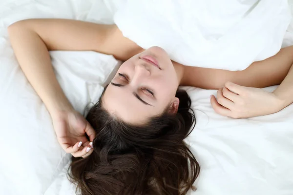
[[[103,107],[131,124],[143,124],[166,108],[177,112],[179,85],[174,66],[160,47],[151,47],[125,61],[108,85]]]

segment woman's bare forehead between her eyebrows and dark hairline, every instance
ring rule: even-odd
[[[109,84],[102,101],[107,112],[131,124],[144,124],[150,117],[163,112],[161,106],[149,106],[140,102],[127,86],[115,87]]]

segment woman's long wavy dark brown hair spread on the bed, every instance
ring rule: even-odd
[[[176,93],[180,100],[177,114],[166,111],[142,126],[111,116],[102,106],[103,94],[86,117],[97,135],[94,151],[86,158],[72,157],[68,169],[77,192],[185,195],[195,190],[200,167],[184,142],[195,125],[187,92]]]

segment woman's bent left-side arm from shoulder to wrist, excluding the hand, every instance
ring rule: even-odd
[[[51,115],[72,108],[55,78],[48,50],[92,50],[127,59],[138,47],[116,25],[77,20],[22,20],[8,32],[22,71]]]

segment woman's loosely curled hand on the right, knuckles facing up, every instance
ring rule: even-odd
[[[232,82],[227,82],[218,90],[217,98],[211,96],[210,103],[216,113],[232,118],[269,115],[283,109],[273,92]]]

